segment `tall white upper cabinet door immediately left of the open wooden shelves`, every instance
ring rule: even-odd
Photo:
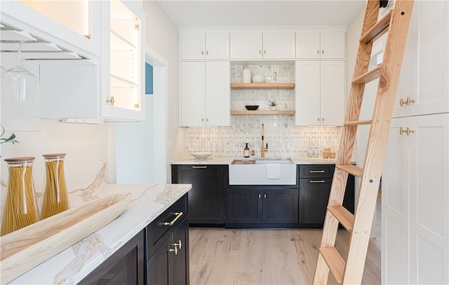
[[[229,62],[206,62],[206,125],[231,124]]]

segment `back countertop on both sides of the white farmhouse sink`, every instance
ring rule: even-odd
[[[180,158],[171,162],[172,165],[230,165],[236,158],[210,157],[205,160],[196,158]],[[291,158],[295,165],[335,165],[335,158],[308,158],[307,156]]]

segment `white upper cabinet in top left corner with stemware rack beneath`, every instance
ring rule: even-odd
[[[22,46],[26,59],[91,60],[100,56],[100,1],[2,1],[0,19],[4,25],[2,52],[16,51],[14,41],[27,41]],[[31,35],[18,38],[14,30]]]

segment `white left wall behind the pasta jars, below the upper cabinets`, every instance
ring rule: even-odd
[[[15,57],[1,55],[1,66],[9,69],[16,63]],[[25,67],[39,76],[36,64],[25,62]],[[61,96],[64,96],[63,94]],[[1,180],[8,181],[5,158],[34,156],[33,178],[36,192],[43,184],[44,165],[42,154],[67,153],[65,176],[67,187],[74,190],[79,181],[86,180],[81,168],[85,165],[104,165],[107,160],[107,125],[62,123],[59,120],[39,118],[39,90],[34,102],[1,102],[1,125],[6,136],[15,133],[20,144],[1,144]],[[81,168],[80,168],[81,167]],[[97,175],[98,172],[87,174]],[[84,177],[83,177],[84,176]],[[88,180],[88,179],[87,179]],[[6,188],[1,187],[4,195]],[[3,196],[2,196],[3,197]]]

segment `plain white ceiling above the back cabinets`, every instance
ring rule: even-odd
[[[177,27],[349,25],[366,0],[158,0]]]

